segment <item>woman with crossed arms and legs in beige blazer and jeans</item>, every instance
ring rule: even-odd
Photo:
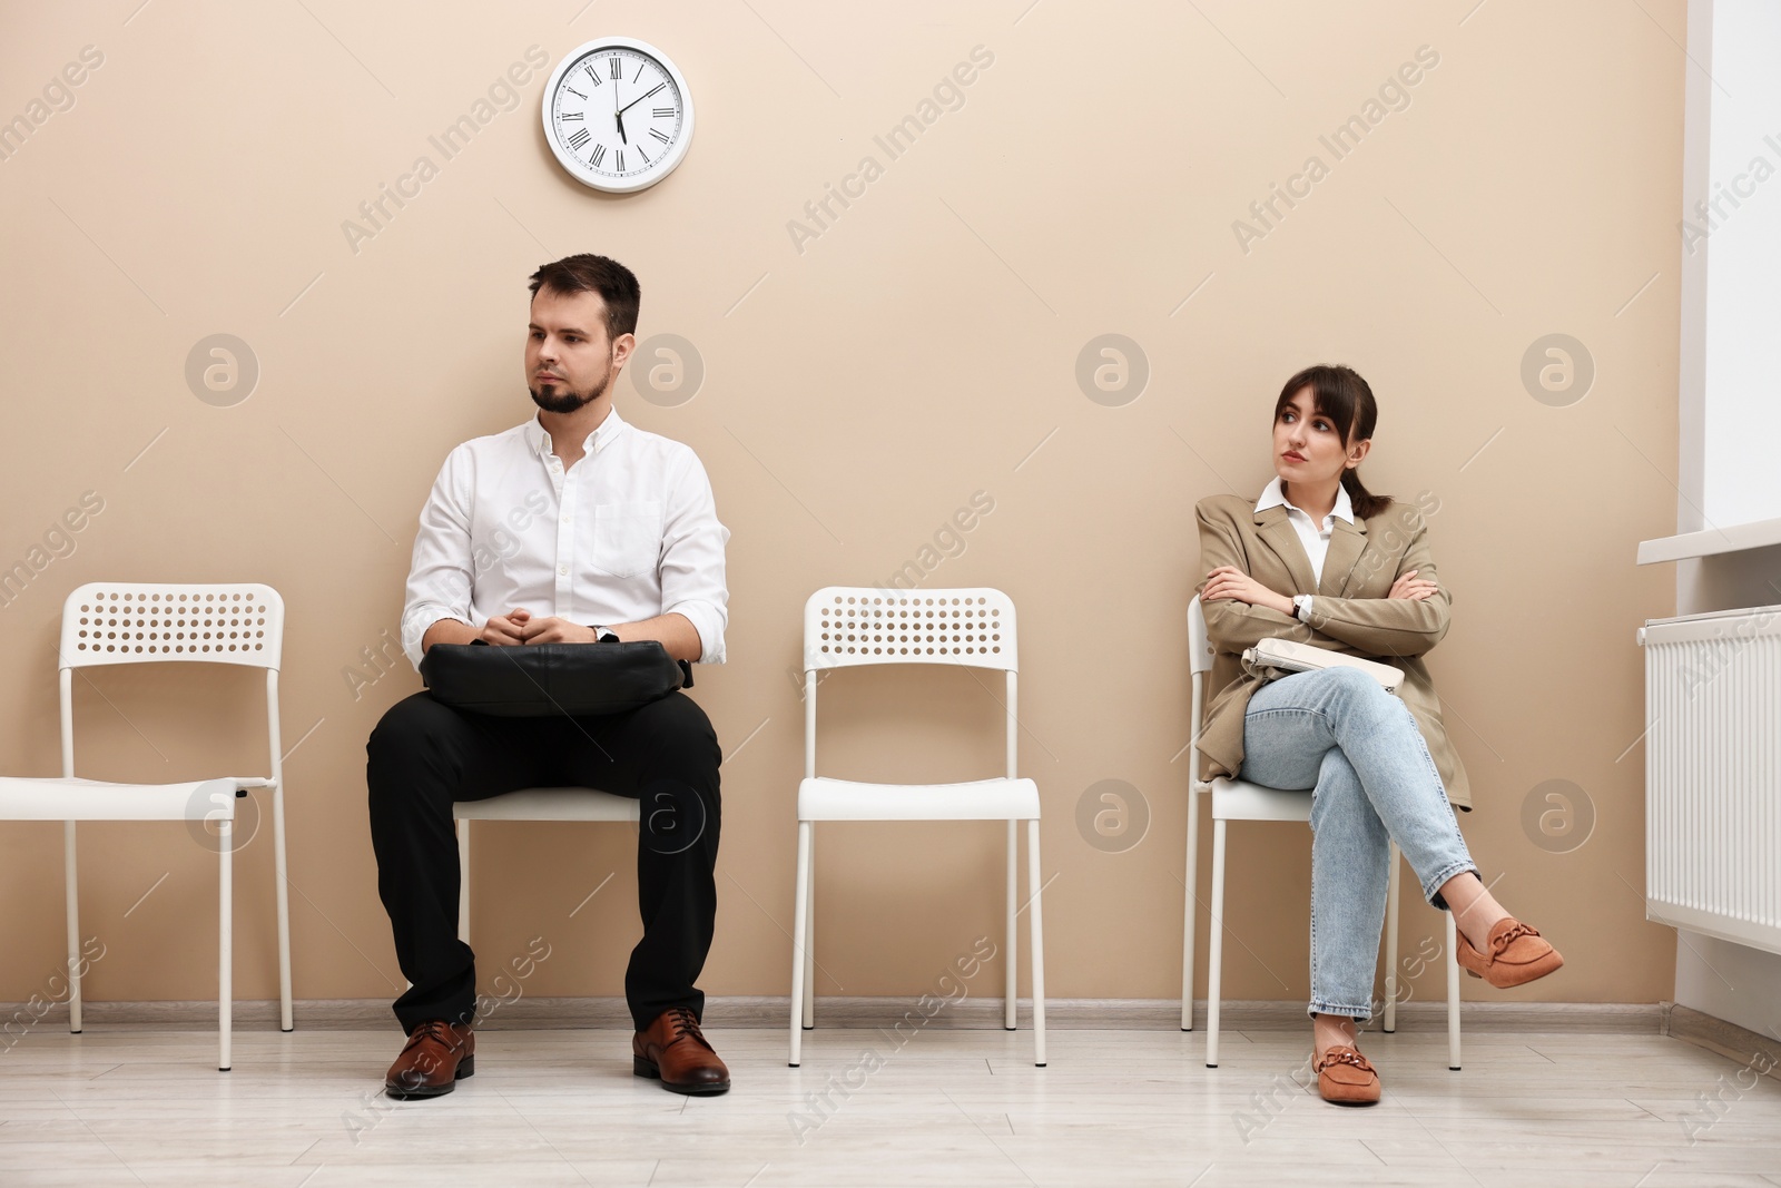
[[[1216,648],[1202,778],[1313,789],[1313,1067],[1339,1104],[1378,1101],[1355,1026],[1371,1017],[1393,839],[1427,899],[1453,912],[1469,972],[1514,987],[1564,964],[1491,896],[1459,834],[1452,805],[1471,810],[1471,791],[1421,659],[1446,634],[1452,598],[1421,511],[1361,484],[1377,417],[1352,369],[1307,367],[1273,406],[1277,477],[1261,499],[1199,504],[1199,595]],[[1268,638],[1402,668],[1400,695],[1354,668],[1263,684],[1240,655]]]

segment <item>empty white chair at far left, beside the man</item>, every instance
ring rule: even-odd
[[[290,1031],[290,899],[285,885],[285,784],[278,741],[278,664],[285,602],[253,582],[185,586],[87,582],[62,604],[57,668],[62,702],[62,777],[0,778],[0,821],[62,821],[68,882],[68,1029],[80,1033],[80,907],[75,869],[77,821],[207,821],[217,828],[217,1069],[230,1069],[233,999],[235,800],[248,789],[272,793],[278,876],[278,1019]],[[100,664],[198,661],[265,670],[267,777],[223,777],[185,784],[107,784],[75,777],[73,675]]]

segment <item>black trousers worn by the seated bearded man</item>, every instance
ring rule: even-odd
[[[584,785],[641,801],[638,907],[625,1001],[641,1031],[670,1006],[703,1017],[695,989],[718,910],[718,736],[682,695],[598,718],[492,718],[415,693],[365,745],[378,894],[410,990],[404,1031],[429,1019],[470,1022],[476,958],[458,940],[458,839],[451,807],[520,787]]]

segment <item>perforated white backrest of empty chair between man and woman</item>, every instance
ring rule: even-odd
[[[1015,671],[1013,600],[999,590],[825,586],[803,604],[803,668],[964,664]]]

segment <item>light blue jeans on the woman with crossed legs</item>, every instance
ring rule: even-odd
[[[1241,778],[1311,793],[1311,1013],[1373,1015],[1391,841],[1437,891],[1476,873],[1409,707],[1354,668],[1293,673],[1250,696]]]

